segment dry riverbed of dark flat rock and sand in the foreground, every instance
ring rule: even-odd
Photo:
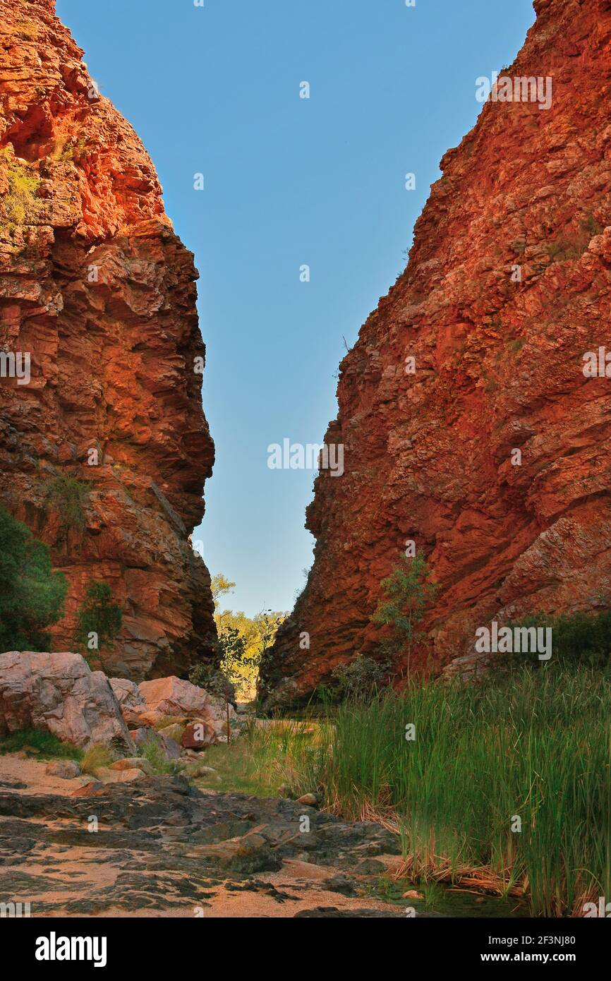
[[[399,862],[380,825],[180,776],[82,796],[45,771],[0,756],[0,903],[32,916],[405,915],[377,897]]]

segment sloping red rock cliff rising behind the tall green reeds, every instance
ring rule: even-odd
[[[503,75],[552,77],[550,108],[484,105],[340,365],[345,473],[317,480],[314,567],[264,668],[288,697],[376,650],[408,540],[440,588],[413,664],[465,654],[491,617],[610,605],[611,381],[583,369],[611,350],[611,3],[535,11]]]

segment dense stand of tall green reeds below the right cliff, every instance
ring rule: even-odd
[[[535,914],[579,911],[611,900],[610,707],[592,669],[414,686],[339,706],[293,754],[293,782],[347,817],[392,819],[424,879],[487,868],[523,881]]]

